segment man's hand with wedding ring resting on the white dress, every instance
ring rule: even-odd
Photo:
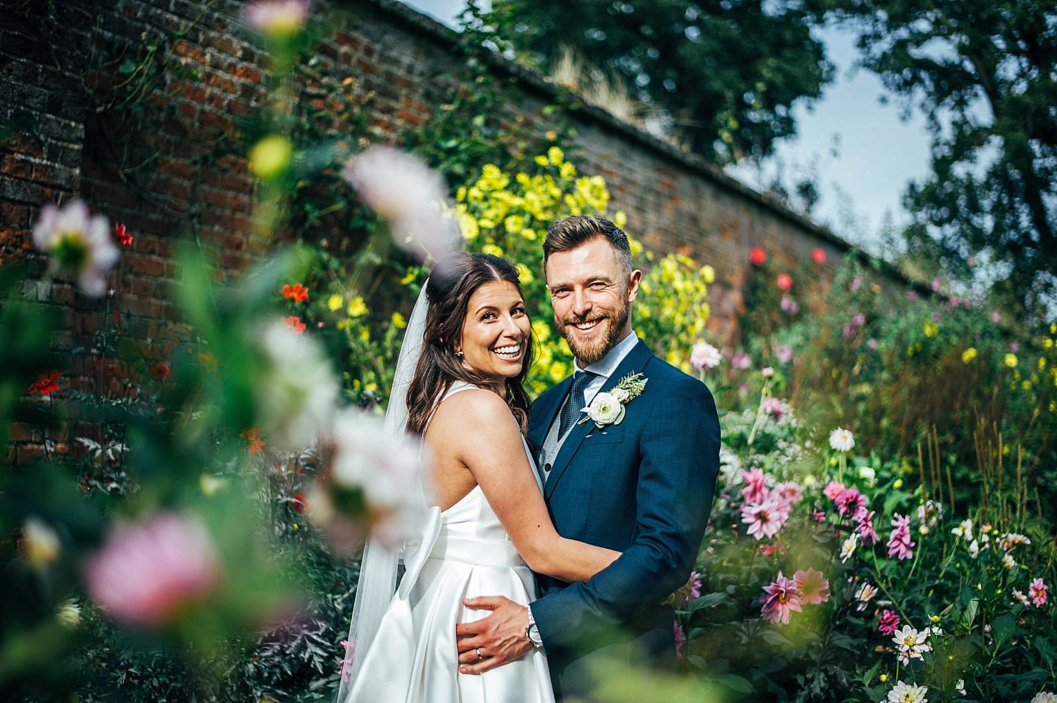
[[[456,625],[459,640],[459,670],[481,673],[513,662],[533,648],[525,636],[528,609],[501,595],[466,598],[463,605],[492,614],[472,623]],[[480,656],[478,656],[480,650]]]

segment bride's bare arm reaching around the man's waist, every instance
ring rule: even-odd
[[[586,581],[620,556],[555,531],[517,422],[496,393],[467,390],[452,395],[438,408],[430,436],[456,449],[533,571]]]

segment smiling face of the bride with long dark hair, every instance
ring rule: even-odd
[[[463,364],[497,381],[513,378],[524,364],[531,329],[524,300],[513,283],[481,285],[470,296],[463,320]]]

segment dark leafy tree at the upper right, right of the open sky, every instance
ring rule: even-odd
[[[907,192],[909,258],[928,255],[966,278],[980,277],[970,271],[970,257],[1000,262],[1012,275],[978,282],[1038,311],[1052,295],[1057,258],[1053,4],[808,4],[852,27],[864,66],[908,110],[920,107],[928,117],[932,172]]]

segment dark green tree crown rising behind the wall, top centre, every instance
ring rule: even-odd
[[[797,2],[558,2],[502,0],[487,20],[534,66],[572,48],[624,76],[682,141],[712,161],[762,158],[794,134],[795,100],[832,78]],[[746,37],[752,37],[746,41]]]

